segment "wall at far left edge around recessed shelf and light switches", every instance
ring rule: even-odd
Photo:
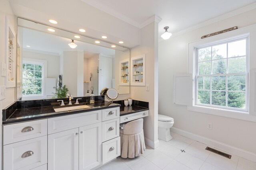
[[[6,63],[6,55],[5,55],[5,48],[6,48],[6,40],[5,40],[5,16],[8,16],[10,21],[10,25],[16,29],[15,25],[15,18],[10,7],[8,0],[1,0],[0,5],[0,62]],[[5,86],[5,77],[0,76],[0,86]],[[12,102],[14,102],[14,92],[15,88],[6,88],[6,98],[0,101],[0,146],[2,146],[2,109]],[[2,147],[0,147],[0,153],[2,153]],[[2,154],[0,154],[0,160],[2,160]],[[0,161],[0,167],[2,167],[2,161]]]

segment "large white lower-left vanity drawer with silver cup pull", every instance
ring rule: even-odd
[[[4,170],[30,170],[47,164],[47,136],[3,147]]]

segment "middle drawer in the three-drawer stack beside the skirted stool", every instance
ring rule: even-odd
[[[119,137],[119,122],[119,118],[102,122],[102,142]]]

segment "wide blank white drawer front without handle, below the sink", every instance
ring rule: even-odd
[[[48,119],[48,135],[101,122],[101,110]]]

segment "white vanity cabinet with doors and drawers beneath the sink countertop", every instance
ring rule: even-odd
[[[119,117],[114,107],[3,125],[3,170],[99,167],[120,156]]]

